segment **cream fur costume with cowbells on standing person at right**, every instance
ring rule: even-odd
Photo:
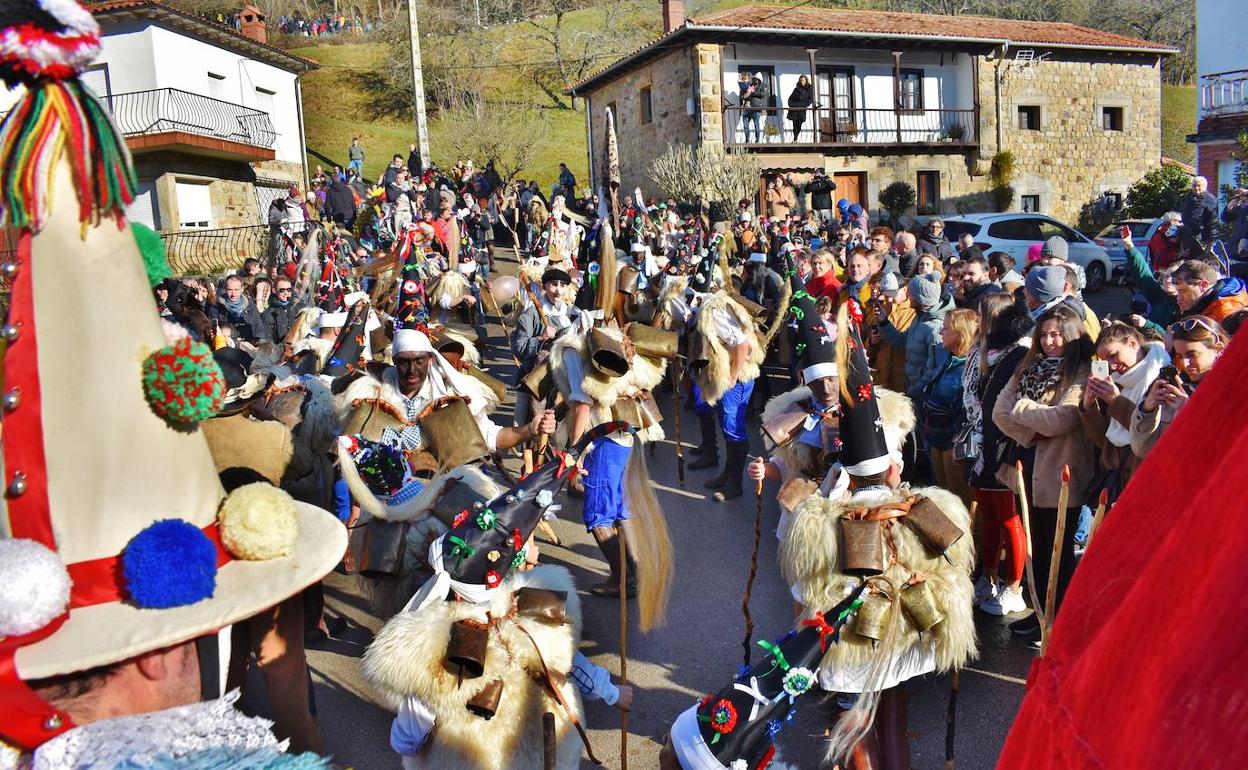
[[[840,644],[827,648],[821,666],[862,666],[881,655],[896,655],[917,641],[934,645],[937,671],[961,666],[977,656],[972,616],[975,590],[970,578],[975,568],[971,515],[956,494],[938,487],[901,488],[887,499],[904,500],[910,495],[930,498],[963,534],[948,548],[946,560],[934,554],[910,527],[894,520],[889,527],[897,547],[896,563],[884,577],[900,587],[911,570],[924,575],[945,619],[924,635],[904,623],[899,635],[877,644],[855,634],[851,624]],[[860,583],[860,578],[841,572],[840,559],[841,513],[855,507],[845,500],[812,495],[794,512],[789,533],[780,544],[780,563],[784,574],[797,585],[805,607],[831,607]],[[894,612],[900,612],[896,597]]]

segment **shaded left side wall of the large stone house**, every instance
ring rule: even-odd
[[[716,47],[716,46],[711,46]],[[607,183],[607,106],[615,105],[615,137],[619,145],[622,195],[641,187],[656,193],[646,166],[668,145],[695,145],[699,139],[699,110],[689,115],[688,101],[695,97],[693,49],[660,56],[595,90],[590,96],[594,182]],[[716,50],[718,56],[718,50]],[[716,59],[718,77],[718,59]],[[651,120],[641,122],[641,90],[650,89]]]

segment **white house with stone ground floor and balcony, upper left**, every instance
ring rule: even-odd
[[[82,81],[125,135],[139,177],[126,217],[161,231],[175,270],[227,270],[267,245],[266,212],[306,187],[300,76],[255,5],[218,24],[160,0],[105,0]],[[16,92],[0,89],[0,110]]]

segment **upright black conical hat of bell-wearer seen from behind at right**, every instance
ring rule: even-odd
[[[845,356],[841,367],[841,465],[851,475],[872,475],[889,469],[889,443],[876,401],[871,368],[862,346],[862,306],[855,297],[845,302],[844,339],[837,348]]]

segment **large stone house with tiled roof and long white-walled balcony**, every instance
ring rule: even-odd
[[[837,197],[871,210],[900,180],[919,213],[992,211],[988,171],[1008,151],[1010,208],[1076,221],[1090,201],[1121,205],[1161,162],[1161,62],[1174,51],[1161,44],[977,16],[663,6],[661,37],[568,91],[592,116],[595,186],[607,107],[624,188],[646,193],[660,192],[646,167],[666,145],[719,145],[759,154],[769,173],[822,167]],[[743,77],[764,85],[766,109],[743,106]],[[789,109],[799,77],[812,105]]]

